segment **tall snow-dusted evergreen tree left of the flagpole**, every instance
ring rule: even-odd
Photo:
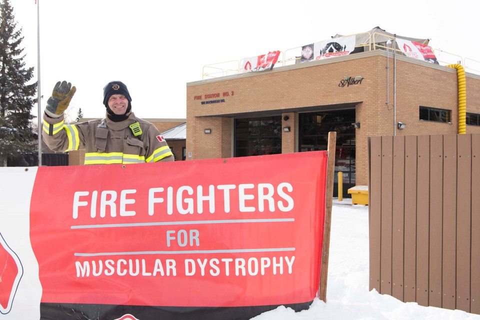
[[[20,43],[9,0],[0,3],[0,166],[7,160],[24,165],[25,158],[36,152],[37,133],[32,127],[31,108],[36,103],[37,83],[27,84],[33,67],[25,68],[25,54]],[[23,159],[23,160],[22,160]]]

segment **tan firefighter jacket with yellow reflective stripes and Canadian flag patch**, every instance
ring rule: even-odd
[[[134,136],[129,125],[138,122],[141,135]],[[138,130],[135,130],[138,133]],[[85,149],[84,164],[141,163],[173,161],[173,153],[158,129],[135,117],[133,112],[119,122],[108,117],[65,124],[63,114],[43,114],[43,141],[53,151]]]

